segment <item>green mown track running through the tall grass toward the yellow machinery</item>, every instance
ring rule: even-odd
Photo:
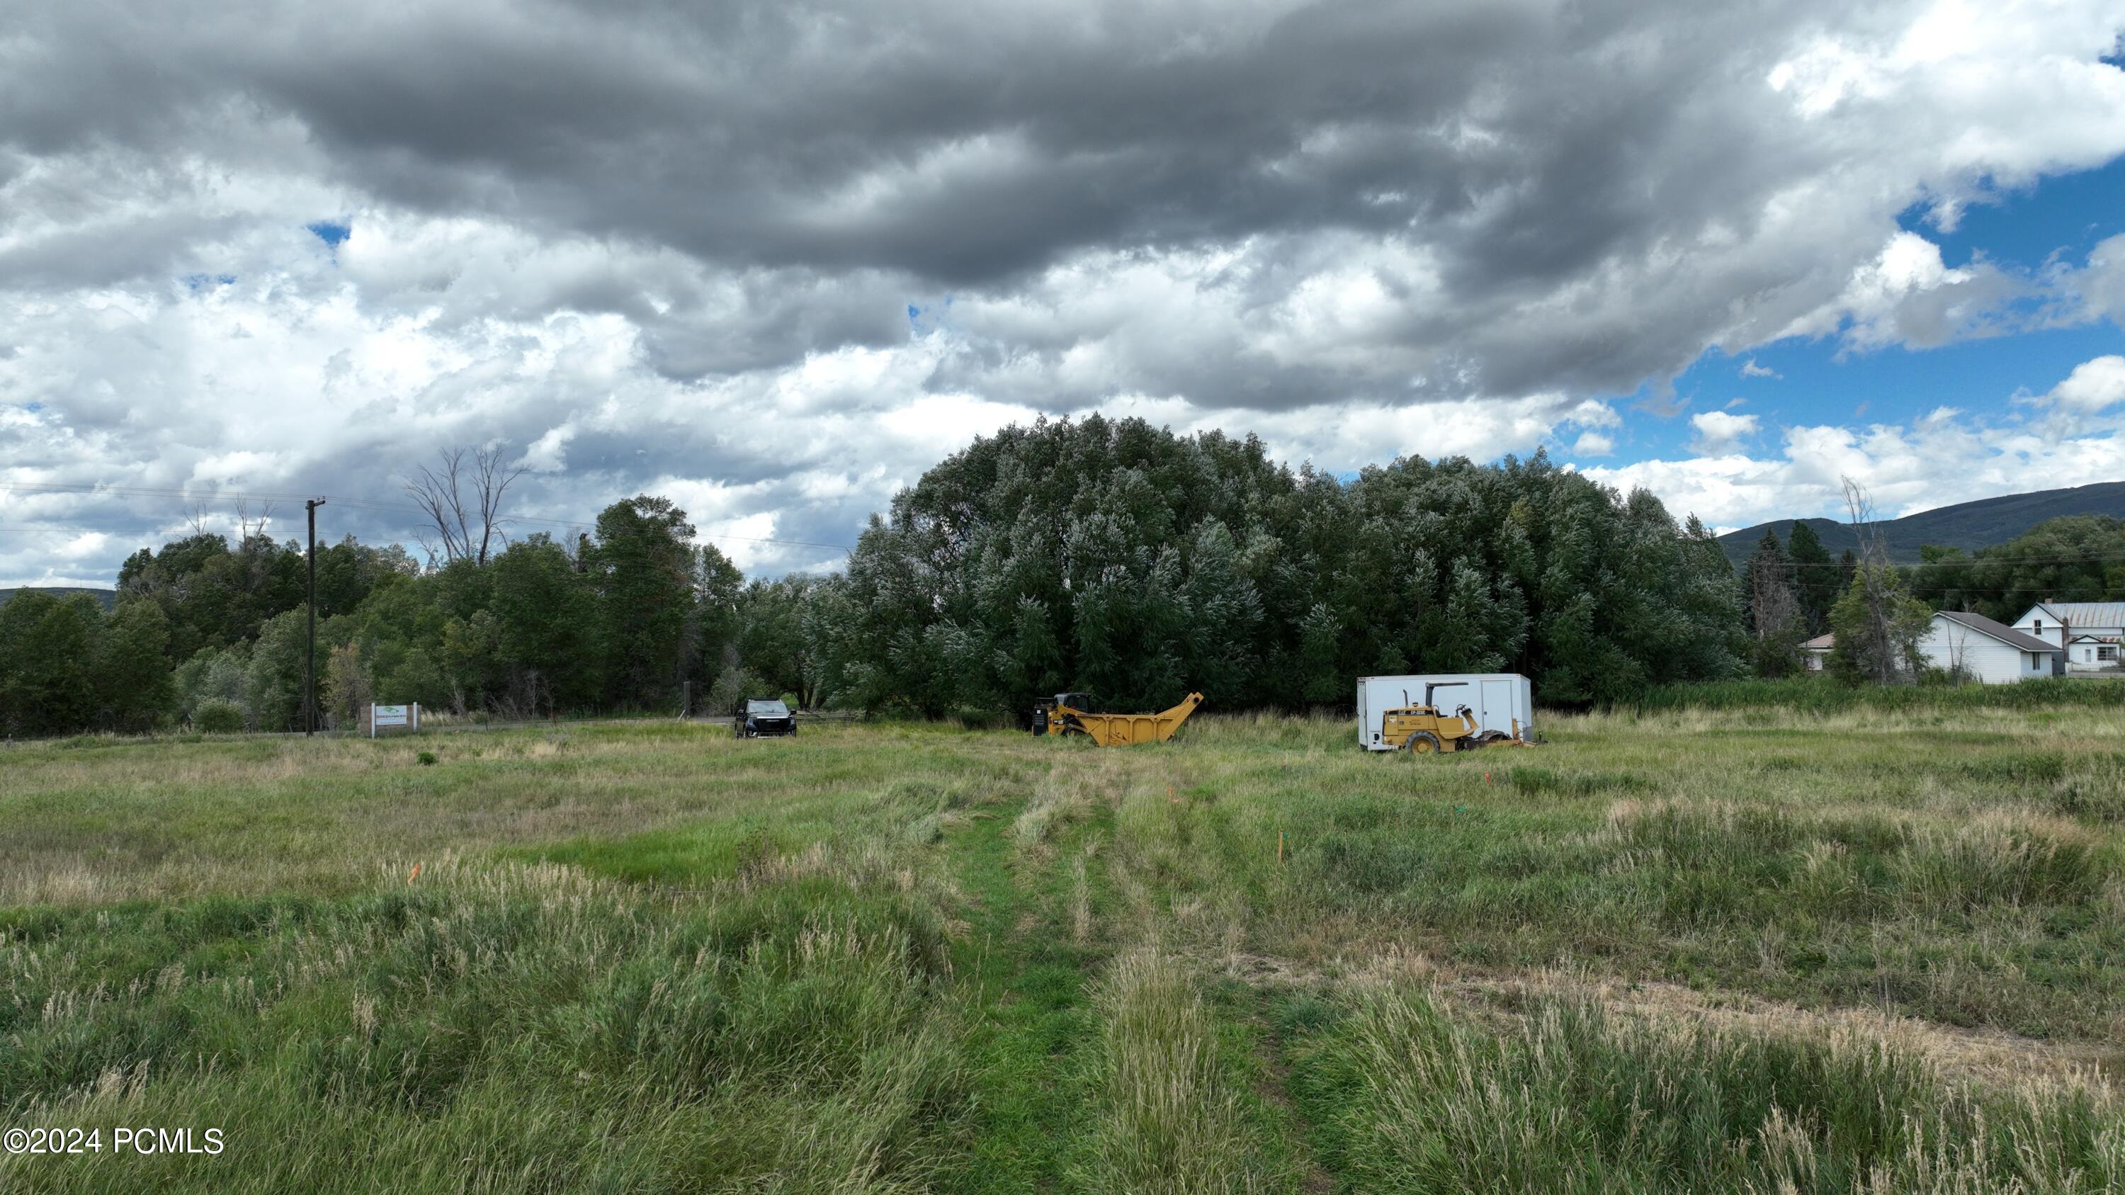
[[[1158,1057],[1162,1042],[1116,1057],[1109,1019],[1128,995],[1114,991],[1114,972],[1124,955],[1160,965],[1156,950],[1118,938],[1109,878],[1103,868],[1084,865],[1114,840],[1116,810],[1099,804],[1039,846],[1014,834],[1022,810],[1022,802],[984,808],[939,844],[969,925],[954,948],[954,972],[967,999],[971,1112],[967,1148],[937,1186],[1143,1189],[1152,1176],[1133,1146],[1150,1140],[1162,1152],[1160,1133],[1192,1131],[1190,1121],[1203,1116],[1222,1123],[1230,1152],[1218,1167],[1190,1176],[1205,1180],[1201,1189],[1328,1189],[1330,1178],[1313,1167],[1307,1127],[1286,1095],[1281,1046],[1256,989],[1235,980],[1201,984],[1194,1023],[1207,1033],[1201,1055],[1184,1048],[1179,1065]],[[1184,974],[1186,987],[1196,989],[1192,967]],[[1156,1021],[1186,1010],[1148,1012]],[[1133,1106],[1128,1078],[1116,1072],[1137,1067],[1184,1095],[1173,1108]]]

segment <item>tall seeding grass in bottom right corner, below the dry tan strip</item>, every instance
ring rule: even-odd
[[[1736,1033],[1547,997],[1483,1031],[1379,993],[1303,1036],[1354,1191],[2116,1191],[2106,1089],[1980,1097],[1881,1042]]]

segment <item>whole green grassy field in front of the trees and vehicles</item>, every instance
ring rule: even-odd
[[[1545,731],[13,746],[0,1189],[2125,1189],[2125,712]]]

